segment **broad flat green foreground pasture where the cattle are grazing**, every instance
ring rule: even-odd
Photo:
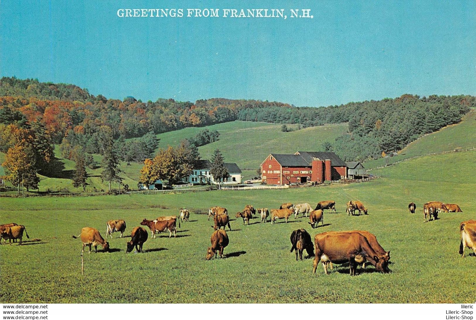
[[[476,183],[463,178],[474,169],[476,152],[409,160],[379,170],[384,178],[366,183],[288,190],[208,191],[160,195],[101,197],[36,197],[2,199],[2,223],[24,224],[30,235],[25,246],[1,245],[0,268],[4,302],[389,302],[471,303],[474,301],[476,257],[460,258],[459,223],[475,219]],[[446,167],[453,163],[454,169]],[[429,168],[432,168],[430,170]],[[441,172],[458,179],[441,179]],[[439,179],[438,179],[439,178]],[[80,273],[81,241],[72,239],[84,226],[104,235],[109,219],[125,219],[126,235],[143,218],[228,208],[230,217],[245,204],[277,208],[282,202],[319,200],[337,202],[337,214],[324,215],[324,227],[311,229],[307,219],[290,219],[275,225],[251,220],[231,221],[226,259],[205,260],[211,221],[191,214],[176,239],[168,233],[149,239],[146,253],[125,254],[126,241],[114,233],[112,252],[85,254]],[[345,203],[358,199],[369,215],[348,217]],[[463,212],[442,213],[424,223],[422,204],[427,200],[458,203]],[[410,201],[416,214],[408,213]],[[167,209],[161,209],[166,207]],[[233,218],[234,219],[234,218]],[[390,250],[390,274],[372,266],[350,277],[346,265],[328,276],[319,264],[312,274],[312,259],[296,261],[290,253],[292,230],[305,228],[311,236],[330,230],[369,230]],[[306,254],[305,254],[306,256]]]

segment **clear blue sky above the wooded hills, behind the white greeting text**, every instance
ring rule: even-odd
[[[121,8],[275,8],[288,19],[119,18]],[[291,19],[290,9],[314,18]],[[73,83],[107,98],[327,106],[476,95],[471,0],[1,0],[0,22],[2,76]]]

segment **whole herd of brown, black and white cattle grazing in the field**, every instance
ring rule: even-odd
[[[332,200],[320,201],[317,206],[312,210],[308,203],[300,203],[293,205],[292,203],[283,203],[279,209],[259,208],[255,209],[252,205],[246,205],[243,211],[236,213],[236,218],[242,218],[244,225],[249,225],[249,220],[254,218],[257,214],[261,218],[262,222],[267,222],[270,217],[271,224],[275,224],[277,219],[285,219],[288,222],[289,217],[294,214],[294,218],[297,219],[299,215],[303,217],[309,217],[308,223],[314,229],[317,227],[317,223],[321,222],[324,226],[324,210],[332,210],[336,212],[336,202]],[[408,209],[411,213],[415,213],[417,205],[411,202],[408,205]],[[351,200],[347,202],[347,215],[354,215],[355,211],[368,214],[367,209],[362,202]],[[457,204],[448,204],[440,201],[430,201],[424,204],[423,212],[425,216],[425,222],[428,219],[438,219],[440,212],[462,212]],[[155,220],[144,219],[140,222],[140,225],[147,226],[151,232],[151,237],[155,238],[157,232],[169,231],[169,238],[174,234],[176,237],[177,224],[180,227],[180,222],[188,221],[190,213],[186,209],[180,210],[177,216],[158,217]],[[213,218],[214,232],[211,235],[210,243],[208,247],[206,259],[210,260],[213,255],[215,258],[217,254],[223,258],[223,250],[228,246],[229,240],[225,227],[231,230],[230,221],[228,218],[228,210],[219,206],[211,207],[208,210],[208,220]],[[221,229],[223,227],[223,230]],[[112,233],[120,232],[122,238],[124,231],[126,230],[126,222],[124,220],[109,220],[106,224],[106,239],[108,236],[112,238]],[[472,249],[476,254],[476,220],[463,221],[460,224],[460,249],[459,253],[464,257],[465,248]],[[25,226],[18,225],[16,223],[9,223],[0,225],[0,244],[3,239],[6,244],[7,239],[11,244],[11,240],[14,242],[19,239],[21,245],[23,238],[23,231],[26,233]],[[26,233],[27,238],[28,233]],[[74,236],[74,239],[80,238],[84,248],[89,246],[89,253],[94,246],[97,252],[98,245],[101,245],[104,250],[109,250],[109,243],[102,238],[99,231],[94,228],[85,227],[81,230],[79,236]],[[131,232],[131,240],[127,242],[126,252],[131,252],[136,248],[138,252],[142,251],[144,242],[148,239],[148,232],[142,227],[135,227]],[[295,251],[296,260],[299,258],[302,260],[302,253],[307,251],[309,257],[314,256],[313,273],[316,272],[316,268],[319,262],[322,263],[325,273],[327,274],[327,268],[333,268],[334,264],[349,263],[350,274],[354,275],[357,269],[357,265],[362,265],[365,268],[365,263],[368,261],[374,265],[377,271],[388,273],[388,262],[390,260],[390,251],[385,251],[378,243],[374,234],[365,230],[350,230],[350,231],[328,231],[319,233],[314,237],[314,244],[312,242],[310,234],[305,229],[297,229],[291,233],[291,252]]]

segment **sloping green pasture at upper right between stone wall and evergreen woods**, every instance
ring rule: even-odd
[[[476,147],[476,110],[468,112],[460,123],[447,126],[408,144],[399,154],[391,158],[366,161],[367,169],[392,164],[400,160],[431,153],[452,151],[458,148]]]

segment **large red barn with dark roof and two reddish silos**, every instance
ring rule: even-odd
[[[347,165],[334,152],[270,154],[261,163],[261,181],[266,184],[322,183],[339,179],[347,179]]]

